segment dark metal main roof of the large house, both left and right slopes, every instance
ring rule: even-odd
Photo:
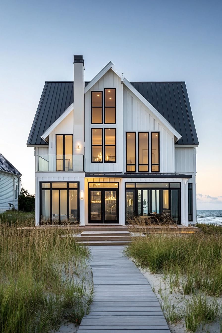
[[[177,144],[199,145],[185,82],[130,83],[182,135]],[[46,81],[27,145],[47,145],[41,136],[72,103],[72,81]]]

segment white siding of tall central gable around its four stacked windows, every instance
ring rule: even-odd
[[[104,89],[116,88],[116,124],[92,125],[91,124],[91,91],[103,91],[103,122],[104,122]],[[116,162],[117,163],[92,163],[91,162],[91,128],[116,128]],[[85,171],[91,172],[118,172],[123,170],[123,129],[122,129],[122,84],[121,79],[112,69],[107,71],[95,85],[85,94]],[[104,139],[103,139],[104,143]],[[103,145],[103,150],[105,149]],[[103,158],[104,161],[104,158]]]

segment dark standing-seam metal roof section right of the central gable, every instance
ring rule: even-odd
[[[130,82],[182,138],[178,145],[199,145],[185,82]]]

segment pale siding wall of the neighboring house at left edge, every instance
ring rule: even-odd
[[[17,198],[15,198],[14,184],[17,185]],[[9,203],[18,209],[18,195],[20,194],[19,177],[10,173],[0,172],[0,212],[11,209]]]

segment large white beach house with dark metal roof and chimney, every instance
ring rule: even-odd
[[[129,82],[109,62],[90,82],[45,83],[27,146],[36,156],[36,225],[125,224],[171,211],[196,222],[198,138],[185,82]]]

